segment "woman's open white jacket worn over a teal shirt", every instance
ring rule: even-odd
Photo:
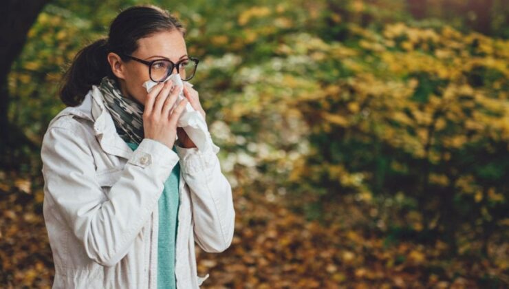
[[[213,150],[145,138],[133,151],[91,93],[66,107],[43,138],[43,213],[52,248],[53,288],[157,288],[158,200],[180,162],[175,252],[177,288],[199,288],[195,241],[208,253],[232,242],[231,186]]]

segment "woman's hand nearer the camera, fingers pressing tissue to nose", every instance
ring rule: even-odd
[[[170,111],[178,96],[177,89],[171,91],[171,84],[172,81],[166,81],[155,85],[147,94],[143,111],[145,138],[157,140],[170,149],[177,136],[177,120],[188,103],[187,99],[183,99]]]

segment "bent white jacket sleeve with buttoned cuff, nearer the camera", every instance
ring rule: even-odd
[[[145,138],[105,195],[83,133],[85,129],[74,124],[51,127],[45,133],[41,148],[44,193],[83,243],[88,257],[113,266],[149,220],[164,180],[179,158],[161,142]]]

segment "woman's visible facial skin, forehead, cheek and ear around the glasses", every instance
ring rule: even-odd
[[[187,56],[184,36],[178,30],[157,32],[152,36],[138,39],[138,46],[138,50],[133,52],[131,56],[144,61],[166,58],[173,61],[173,63],[177,63],[184,56]],[[147,89],[143,87],[143,83],[151,80],[149,66],[134,60],[122,61],[120,56],[113,52],[108,54],[108,61],[113,74],[118,77],[122,94],[127,98],[134,98],[133,100],[144,105],[147,98]],[[173,69],[173,73],[177,73],[176,68]]]

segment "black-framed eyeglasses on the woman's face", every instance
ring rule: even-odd
[[[150,79],[156,83],[164,81],[173,72],[173,69],[177,67],[177,73],[180,74],[182,81],[188,81],[195,76],[196,67],[198,66],[199,59],[194,57],[187,57],[181,59],[177,63],[173,63],[168,59],[155,59],[153,61],[144,61],[143,59],[136,58],[131,55],[122,54],[127,58],[131,58],[134,61],[143,63],[149,66]]]

